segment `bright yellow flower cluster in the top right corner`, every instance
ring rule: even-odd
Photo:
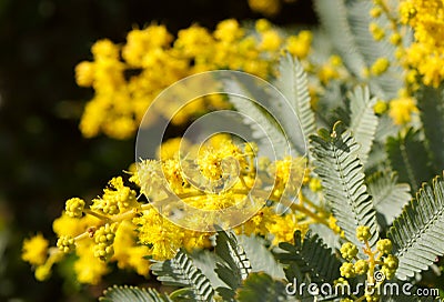
[[[415,37],[403,56],[405,64],[417,70],[424,84],[437,87],[444,79],[444,2],[403,0],[400,14]]]

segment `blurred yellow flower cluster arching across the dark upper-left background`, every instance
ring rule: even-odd
[[[101,132],[115,139],[130,138],[152,100],[188,76],[230,69],[266,79],[283,49],[300,58],[309,53],[311,33],[306,31],[285,37],[265,20],[259,20],[256,28],[243,28],[230,19],[213,32],[191,26],[179,31],[174,40],[164,26],[151,24],[130,31],[123,46],[107,39],[95,42],[93,61],[75,67],[77,83],[94,90],[84,108],[81,132],[87,138]],[[182,123],[210,108],[223,107],[221,95],[201,98],[183,108],[172,122]],[[168,107],[159,110],[160,115],[172,118]]]

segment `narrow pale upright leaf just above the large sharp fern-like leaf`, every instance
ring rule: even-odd
[[[349,98],[351,110],[350,129],[356,142],[361,144],[359,157],[361,162],[365,164],[377,129],[377,117],[373,111],[376,99],[370,98],[367,87],[356,87],[353,92],[349,93]]]

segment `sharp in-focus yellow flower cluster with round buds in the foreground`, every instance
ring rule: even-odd
[[[259,168],[255,165],[258,148],[254,144],[238,144],[228,135],[215,135],[199,148],[188,144],[189,155],[185,159],[195,155],[191,161],[195,164],[192,170],[208,180],[202,182],[194,177],[185,177],[186,171],[179,161],[179,139],[164,143],[160,152],[162,160],[138,163],[138,171],[132,172],[129,179],[131,184],[127,185],[118,177],[90,204],[80,198],[69,199],[62,215],[53,222],[53,231],[59,238],[57,246],[49,246],[41,234],[24,240],[22,259],[34,265],[36,278],[49,278],[52,265],[69,253],[78,256],[73,263],[78,281],[97,284],[102,275],[110,272],[110,262],[119,269],[147,275],[150,258],[167,260],[174,256],[180,248],[210,248],[214,231],[189,230],[165,217],[165,213],[176,209],[176,198],[193,208],[211,211],[223,211],[242,200],[254,200],[261,205],[259,211],[234,226],[234,231],[239,234],[261,234],[273,244],[292,242],[294,230],[305,233],[310,223],[335,226],[330,213],[311,203],[302,193],[297,195],[299,202],[284,203],[289,205],[284,214],[276,212],[282,199],[292,198],[291,192],[297,193],[292,190],[295,188],[291,188],[294,183],[319,190],[319,185],[314,184],[316,181],[304,177],[303,160],[284,158],[275,162],[265,161]],[[226,174],[230,169],[234,169],[235,178]],[[223,182],[230,185],[224,188]],[[258,183],[264,187],[253,188]],[[262,188],[270,188],[270,191]],[[162,204],[163,208],[160,211],[154,204]]]

